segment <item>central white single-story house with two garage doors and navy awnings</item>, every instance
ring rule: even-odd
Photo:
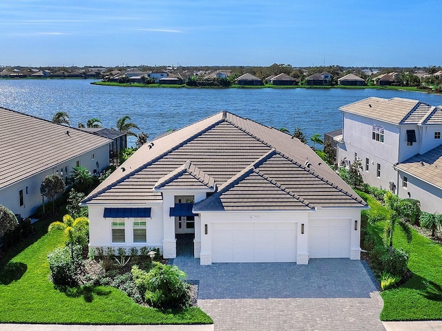
[[[309,146],[225,111],[144,144],[82,204],[91,248],[173,258],[189,234],[202,265],[360,259],[367,208]]]

